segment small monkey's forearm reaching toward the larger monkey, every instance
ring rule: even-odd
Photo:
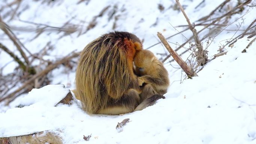
[[[150,83],[155,85],[166,85],[167,82],[164,79],[152,77],[149,75],[144,75],[141,77],[138,77],[139,85],[142,85],[144,83]]]

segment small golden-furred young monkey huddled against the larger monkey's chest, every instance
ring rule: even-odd
[[[168,72],[161,61],[149,50],[139,50],[134,57],[135,74],[142,87],[143,101],[152,95],[164,95],[169,86]],[[162,96],[164,98],[164,96]]]

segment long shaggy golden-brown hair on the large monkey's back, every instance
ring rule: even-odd
[[[128,89],[137,88],[129,58],[130,33],[104,34],[90,42],[80,55],[76,70],[76,91],[83,109],[97,113],[110,99],[118,100]],[[139,41],[139,40],[138,40]]]

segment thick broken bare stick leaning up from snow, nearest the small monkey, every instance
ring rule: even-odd
[[[182,60],[182,58],[178,55],[178,53],[176,51],[174,51],[171,46],[168,44],[167,40],[164,38],[164,36],[161,33],[157,33],[157,36],[159,37],[159,39],[161,40],[161,42],[164,44],[165,48],[168,50],[168,52],[171,54],[171,56],[173,56],[173,58],[175,59],[175,61],[180,65],[180,67],[185,71],[185,73],[187,74],[187,76],[189,78],[193,77],[193,76],[197,76],[197,74],[195,73],[195,71],[193,71],[193,69],[191,67],[189,67],[185,61]]]

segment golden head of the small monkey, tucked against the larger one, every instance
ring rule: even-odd
[[[149,50],[139,50],[134,57],[135,71],[140,76],[150,75],[153,70],[154,60],[157,60],[155,55]]]

